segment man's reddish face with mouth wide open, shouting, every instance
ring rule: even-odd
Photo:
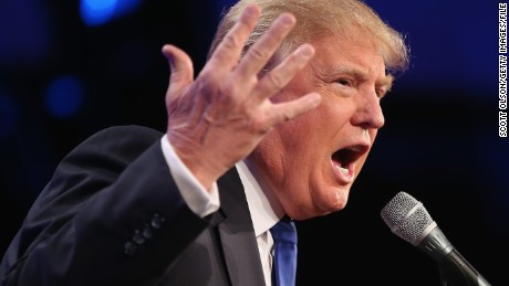
[[[277,126],[248,159],[295,220],[345,206],[384,125],[380,99],[392,83],[371,41],[334,35],[313,45],[316,53],[311,63],[273,102],[318,92],[321,105]]]

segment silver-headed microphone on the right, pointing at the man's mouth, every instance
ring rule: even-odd
[[[381,214],[394,234],[437,262],[442,286],[491,285],[446,239],[423,203],[408,193],[398,192]]]

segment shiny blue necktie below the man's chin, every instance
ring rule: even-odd
[[[273,286],[294,286],[297,271],[297,231],[290,218],[284,216],[270,229],[274,240]]]

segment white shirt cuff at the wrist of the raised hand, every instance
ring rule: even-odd
[[[169,172],[189,209],[200,218],[205,218],[219,210],[220,203],[217,182],[214,182],[210,190],[207,191],[180,158],[178,158],[178,155],[169,144],[167,135],[160,138],[160,146],[166,163],[169,167]]]

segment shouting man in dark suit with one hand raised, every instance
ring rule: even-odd
[[[163,47],[164,135],[113,127],[63,159],[2,285],[272,285],[270,229],[345,206],[407,64],[401,35],[355,0],[240,1],[210,51],[194,80]]]

